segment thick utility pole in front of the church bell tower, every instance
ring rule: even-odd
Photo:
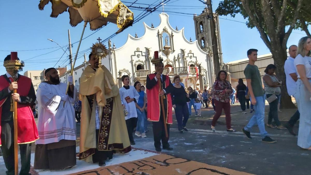
[[[217,45],[217,37],[216,37],[216,25],[214,21],[214,15],[212,10],[212,2],[211,0],[205,0],[206,8],[208,10],[207,18],[210,22],[210,31],[211,31],[211,44],[212,44],[212,51],[213,51],[213,58],[214,58],[214,70],[215,75],[218,74],[220,71],[220,63],[219,63],[219,54],[218,54],[218,45]]]

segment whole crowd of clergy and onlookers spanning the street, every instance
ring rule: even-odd
[[[110,71],[100,65],[99,59],[91,53],[90,65],[83,71],[80,80],[81,99],[73,85],[72,76],[67,78],[68,88],[67,84],[60,82],[55,68],[45,70],[46,80],[40,83],[36,95],[30,78],[7,69],[7,73],[0,76],[3,82],[0,84],[0,144],[7,173],[14,173],[15,140],[11,100],[18,102],[17,141],[21,153],[21,174],[27,174],[30,170],[32,143],[36,144],[35,169],[59,170],[76,165],[76,122],[81,123],[79,159],[98,163],[99,166],[105,166],[105,160],[113,158],[116,152],[131,151],[131,145],[135,144],[133,133],[137,137],[146,138],[147,120],[152,122],[156,151],[173,150],[168,142],[173,108],[180,133],[188,131],[186,125],[192,115],[192,107],[195,115],[201,116],[201,107],[207,108],[210,104],[215,111],[211,130],[216,131],[216,121],[224,110],[227,131],[235,132],[231,128],[230,113],[230,102],[234,104],[235,94],[242,114],[246,114],[246,108],[249,107],[250,113],[254,112],[242,129],[248,139],[252,139],[250,131],[257,125],[263,142],[276,143],[265,130],[267,101],[269,114],[266,126],[287,129],[296,135],[293,126],[300,119],[297,144],[311,150],[311,118],[308,111],[311,107],[311,38],[303,37],[298,47],[289,47],[290,57],[284,66],[286,86],[287,93],[295,97],[298,110],[284,126],[278,118],[282,82],[275,75],[277,67],[269,64],[261,77],[255,65],[257,52],[256,49],[247,51],[249,62],[244,69],[246,85],[243,79],[239,79],[235,89],[227,80],[227,72],[223,70],[217,74],[212,87],[205,87],[203,91],[186,88],[179,75],[174,76],[171,82],[169,76],[162,74],[164,64],[157,57],[157,51],[153,59],[156,72],[147,76],[146,87],[138,81],[131,86],[130,77],[123,75],[121,88]],[[11,59],[11,55],[8,55],[4,62]],[[23,87],[18,88],[18,84]],[[14,90],[17,92],[13,93]],[[37,125],[34,120],[35,101],[38,103]]]

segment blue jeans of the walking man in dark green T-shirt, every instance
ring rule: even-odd
[[[268,136],[268,133],[265,129],[265,122],[263,121],[265,119],[265,102],[266,102],[266,95],[255,97],[256,98],[256,105],[255,108],[255,114],[253,117],[248,121],[248,124],[244,127],[244,130],[251,131],[252,127],[254,125],[258,125],[260,135],[262,138]],[[250,98],[252,101],[252,98]]]

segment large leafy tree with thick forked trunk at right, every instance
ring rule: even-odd
[[[308,13],[309,0],[224,0],[219,3],[216,13],[235,17],[241,14],[247,19],[249,28],[256,27],[265,45],[270,49],[276,74],[286,82],[284,62],[287,58],[287,40],[293,29],[309,33],[307,25],[311,21]],[[298,21],[298,22],[297,22]],[[286,85],[281,86],[283,107],[294,107],[288,96]]]

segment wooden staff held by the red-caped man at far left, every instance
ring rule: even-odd
[[[17,93],[17,90],[14,89],[13,93]],[[13,100],[13,125],[14,125],[14,168],[15,175],[18,175],[18,147],[17,147],[17,102]]]

